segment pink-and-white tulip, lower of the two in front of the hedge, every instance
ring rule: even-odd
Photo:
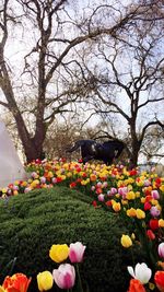
[[[52,271],[56,284],[60,289],[70,289],[75,282],[75,270],[70,264],[61,264],[58,269]]]

